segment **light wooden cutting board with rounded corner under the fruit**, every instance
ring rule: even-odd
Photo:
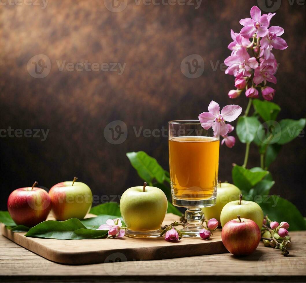
[[[95,215],[88,214],[87,217]],[[49,217],[48,220],[54,218]],[[162,225],[169,225],[179,217],[166,214]],[[170,259],[227,252],[221,241],[221,229],[214,231],[209,240],[182,238],[176,243],[155,239],[96,239],[51,240],[25,237],[25,233],[12,232],[2,224],[2,235],[16,244],[51,261],[63,264],[91,264],[118,261]]]

